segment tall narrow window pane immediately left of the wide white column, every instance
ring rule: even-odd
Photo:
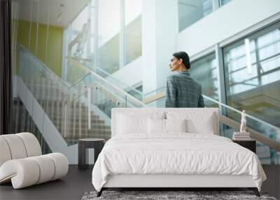
[[[142,1],[125,1],[125,65],[142,55]]]

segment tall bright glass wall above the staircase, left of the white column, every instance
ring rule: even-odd
[[[65,56],[113,74],[142,55],[141,10],[141,0],[89,1],[66,28]],[[71,82],[85,75],[72,64],[65,66]]]

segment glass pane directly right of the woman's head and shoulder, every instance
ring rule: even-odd
[[[202,93],[218,100],[218,67],[215,53],[206,55],[190,64],[190,75],[202,84]],[[213,102],[207,102],[207,107]]]

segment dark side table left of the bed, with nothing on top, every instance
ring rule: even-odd
[[[78,140],[78,169],[88,168],[88,149],[94,149],[94,163],[104,147],[105,140],[100,138],[84,138]]]

